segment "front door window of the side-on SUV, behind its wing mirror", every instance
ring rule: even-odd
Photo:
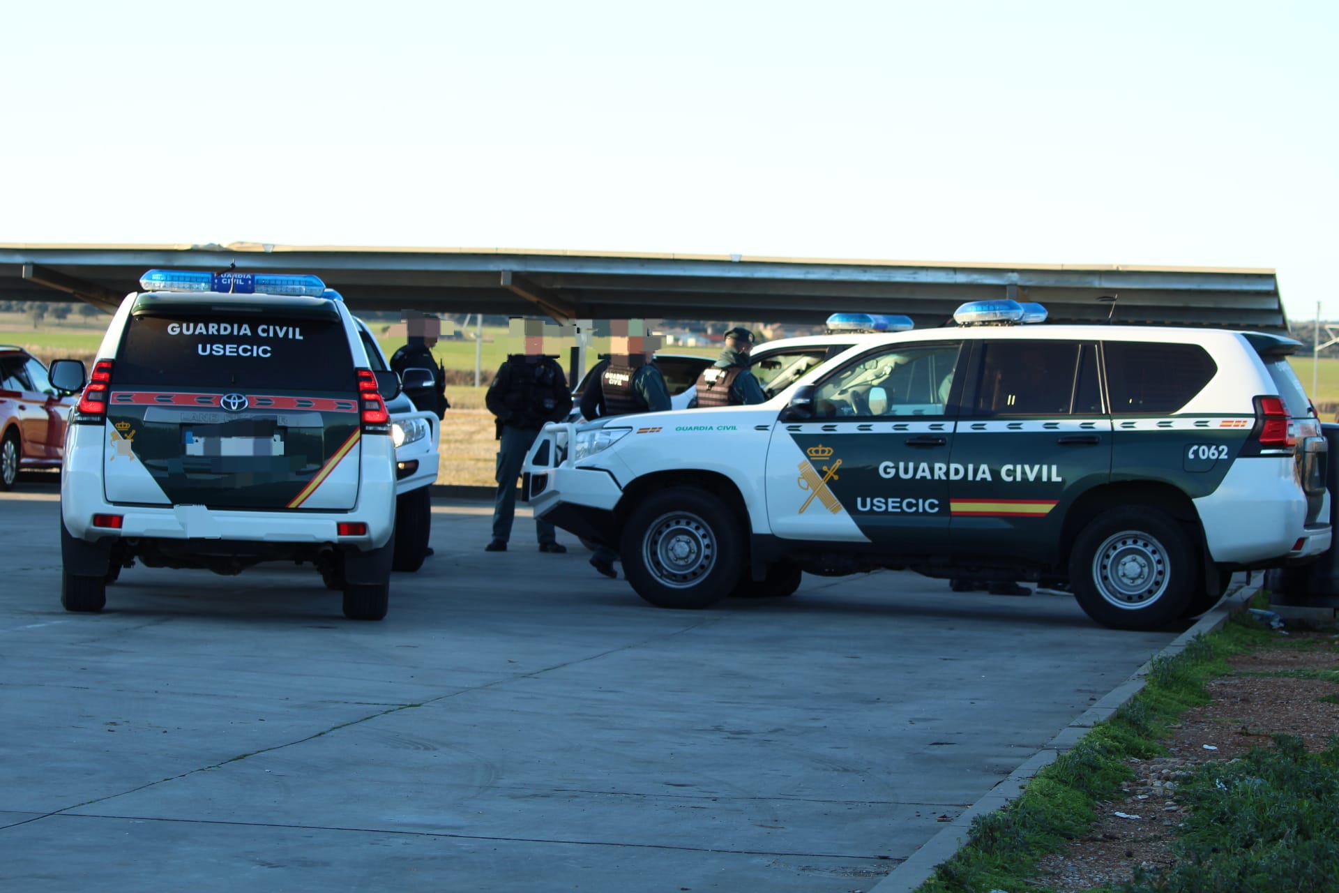
[[[957,344],[866,353],[818,386],[814,414],[818,418],[944,415],[957,355]]]

